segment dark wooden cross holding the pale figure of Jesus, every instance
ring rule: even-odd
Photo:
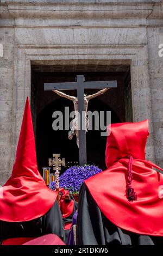
[[[117,81],[86,81],[83,75],[77,75],[76,82],[61,82],[61,83],[44,83],[44,90],[77,90],[78,113],[80,114],[80,130],[78,131],[78,147],[79,147],[79,164],[86,164],[86,134],[85,134],[85,117],[84,125],[83,113],[85,113],[85,97],[84,89],[103,89],[116,88]],[[84,127],[84,129],[83,129]]]

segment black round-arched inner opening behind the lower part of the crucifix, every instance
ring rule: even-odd
[[[73,111],[72,102],[66,99],[58,99],[43,108],[36,120],[36,148],[37,148],[37,163],[41,170],[43,166],[47,166],[48,158],[52,157],[53,153],[61,154],[66,160],[66,167],[79,163],[78,147],[76,137],[72,140],[68,139],[68,131],[54,131],[52,129],[52,114],[54,111],[64,113],[64,107],[70,107]],[[112,109],[101,100],[94,99],[89,104],[90,111],[111,111],[112,123],[119,123],[120,119],[112,111]],[[105,144],[106,137],[101,136],[101,131],[88,131],[86,134],[87,146],[87,163],[95,163],[102,169],[105,169]]]

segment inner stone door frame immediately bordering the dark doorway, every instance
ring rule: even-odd
[[[15,149],[18,140],[22,120],[22,105],[26,102],[28,95],[32,102],[31,88],[31,64],[33,65],[130,65],[131,70],[131,97],[133,104],[133,121],[141,121],[148,118],[150,122],[151,136],[147,142],[146,155],[147,159],[154,161],[154,142],[153,142],[153,123],[151,111],[151,94],[148,74],[148,61],[146,59],[147,46],[123,45],[117,51],[113,45],[105,47],[76,47],[74,49],[64,46],[65,53],[60,56],[61,47],[53,48],[28,48],[17,45],[17,57],[15,65],[15,82],[14,82],[14,120],[12,125],[12,157],[11,166],[15,158]],[[86,55],[85,55],[86,50]],[[21,69],[17,66],[22,64]],[[24,82],[25,81],[25,82]],[[23,95],[22,95],[23,92]],[[140,93],[142,92],[142,93]],[[139,95],[139,97],[137,97]],[[20,107],[21,105],[21,107]]]

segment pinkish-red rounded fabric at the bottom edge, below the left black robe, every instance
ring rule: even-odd
[[[48,234],[23,243],[23,245],[65,245],[65,243],[60,239],[59,236]]]

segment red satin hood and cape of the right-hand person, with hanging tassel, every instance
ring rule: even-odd
[[[110,127],[109,127],[110,130]],[[85,180],[99,209],[115,225],[138,234],[163,236],[163,174],[145,160],[148,120],[112,124],[106,143],[108,169]],[[137,199],[126,195],[128,155],[134,157],[131,186]]]

